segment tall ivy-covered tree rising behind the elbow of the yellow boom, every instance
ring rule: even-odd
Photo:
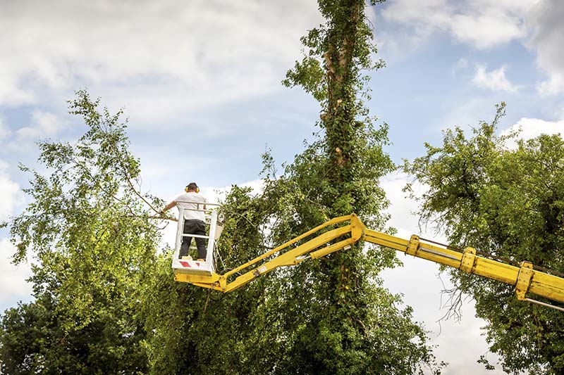
[[[365,2],[319,1],[319,10],[327,22],[302,38],[307,54],[284,81],[303,87],[319,101],[319,138],[277,179],[274,166],[266,164],[265,194],[269,201],[286,205],[273,214],[278,224],[273,239],[278,243],[351,212],[371,227],[381,229],[386,222],[381,210],[388,201],[376,182],[393,170],[382,149],[388,141],[387,125],[374,127],[363,102],[369,98],[367,77],[361,74],[384,64],[372,62],[376,47]],[[273,286],[278,299],[299,306],[299,311],[286,309],[290,314],[281,317],[290,345],[288,362],[281,367],[411,374],[421,364],[434,366],[424,331],[410,321],[410,309],[398,310],[400,298],[390,295],[377,278],[379,270],[396,262],[391,251],[365,252],[359,245],[290,270],[291,277]],[[409,348],[413,355],[404,356],[399,348]]]

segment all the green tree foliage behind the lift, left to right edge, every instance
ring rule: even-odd
[[[232,186],[223,202],[219,272],[257,257],[332,217],[355,212],[386,228],[379,179],[396,168],[384,152],[363,70],[378,69],[366,4],[319,0],[326,23],[302,37],[304,56],[283,81],[319,101],[316,138],[277,170],[263,155],[263,189]],[[163,201],[142,193],[123,113],[86,91],[69,102],[85,134],[39,143],[30,204],[9,226],[16,263],[34,261],[35,300],[6,310],[0,360],[8,374],[414,374],[439,373],[424,329],[389,293],[379,272],[392,250],[360,243],[321,260],[279,269],[223,295],[173,281],[161,244]],[[470,135],[449,129],[439,147],[404,170],[429,190],[422,222],[453,245],[509,262],[564,272],[564,141],[539,136],[516,149],[497,136],[505,106]],[[409,188],[409,186],[408,186]],[[564,371],[560,312],[515,299],[511,286],[452,272],[486,319],[505,371]],[[486,367],[492,367],[484,358]]]

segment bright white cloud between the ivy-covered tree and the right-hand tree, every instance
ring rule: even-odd
[[[419,219],[414,212],[417,211],[417,202],[406,197],[402,191],[407,182],[411,182],[407,174],[393,172],[381,181],[381,186],[386,191],[386,197],[391,202],[388,212],[391,219],[388,222],[398,229],[397,236],[408,239],[411,234],[419,234],[427,239],[446,242],[445,236],[434,231],[434,228],[419,229]],[[413,189],[417,194],[424,193],[426,186],[414,184]],[[413,258],[410,255],[398,253],[403,267],[386,269],[380,277],[384,286],[392,293],[402,293],[405,305],[413,307],[413,316],[419,322],[424,322],[430,331],[431,345],[438,345],[434,354],[438,360],[448,362],[448,367],[443,374],[486,374],[482,364],[476,361],[480,355],[488,351],[488,346],[480,327],[485,325],[484,320],[474,317],[472,302],[462,306],[462,320],[460,324],[453,319],[439,323],[439,319],[446,314],[441,305],[446,303],[446,297],[441,296],[444,287],[450,288],[452,284],[447,274],[439,279],[439,265],[427,260]],[[445,285],[443,286],[443,282]],[[491,362],[496,362],[497,356],[489,354]],[[490,372],[487,372],[490,374]],[[491,374],[504,374],[501,370],[492,371]]]

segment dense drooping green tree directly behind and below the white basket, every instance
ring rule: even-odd
[[[233,186],[223,202],[219,272],[264,251],[266,201]],[[279,327],[269,325],[265,303],[276,302],[259,279],[226,295],[173,279],[171,251],[147,279],[147,348],[152,374],[270,374],[283,357]],[[281,312],[274,312],[278,314]]]

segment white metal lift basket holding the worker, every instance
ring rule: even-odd
[[[196,205],[196,208],[184,208],[178,203],[192,203]],[[172,268],[175,274],[192,274],[201,276],[211,276],[214,273],[214,248],[216,240],[219,239],[221,235],[221,230],[223,226],[218,225],[218,209],[219,204],[216,203],[194,203],[188,201],[177,201],[176,206],[178,207],[178,226],[176,227],[176,243],[174,246],[174,256],[172,259]],[[212,208],[209,208],[209,207]],[[204,208],[205,207],[205,208]],[[205,223],[207,229],[207,236],[200,236],[197,234],[184,234],[184,211],[192,210],[204,212]],[[191,244],[194,244],[197,238],[206,239],[206,259],[204,262],[198,260],[192,260],[190,257],[180,258],[180,246],[182,245],[183,237],[192,237]],[[190,249],[188,249],[190,250]]]

